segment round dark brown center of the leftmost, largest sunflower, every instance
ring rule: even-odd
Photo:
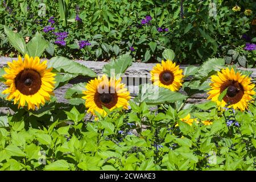
[[[26,96],[37,93],[41,85],[41,76],[34,69],[24,69],[15,78],[16,89]]]

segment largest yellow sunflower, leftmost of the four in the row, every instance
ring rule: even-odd
[[[14,104],[19,102],[18,107],[27,104],[28,110],[35,110],[35,106],[44,105],[50,100],[55,84],[55,74],[51,73],[52,68],[47,69],[47,61],[40,63],[39,57],[25,55],[24,60],[19,56],[13,63],[7,63],[5,68],[5,84],[8,86],[3,94],[9,94],[7,100],[14,98]]]

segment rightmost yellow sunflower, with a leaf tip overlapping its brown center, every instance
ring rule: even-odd
[[[212,76],[211,81],[208,100],[216,101],[217,105],[221,107],[228,106],[243,111],[247,109],[248,102],[255,94],[253,90],[255,85],[251,83],[251,78],[241,75],[240,72],[235,72],[233,68],[222,69],[221,72],[217,72],[217,75]],[[222,101],[218,101],[221,92],[227,88],[227,93]]]

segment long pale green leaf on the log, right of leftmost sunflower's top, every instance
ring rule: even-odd
[[[63,73],[78,74],[90,77],[97,76],[92,69],[76,63],[73,60],[67,59],[66,57],[52,57],[52,59],[48,61],[48,68],[51,67],[56,69],[56,71]]]

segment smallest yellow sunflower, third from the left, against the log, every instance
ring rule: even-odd
[[[184,77],[182,72],[179,65],[176,66],[176,63],[167,60],[162,61],[162,65],[156,64],[150,73],[154,85],[162,86],[175,92],[182,85],[181,82],[183,82]]]

